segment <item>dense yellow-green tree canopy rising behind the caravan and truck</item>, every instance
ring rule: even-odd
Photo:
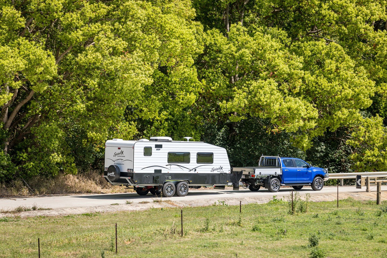
[[[101,169],[185,136],[387,169],[387,2],[0,1],[0,181]],[[253,140],[252,140],[253,139]]]

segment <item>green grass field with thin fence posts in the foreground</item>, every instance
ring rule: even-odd
[[[125,204],[131,205],[131,204]],[[288,202],[0,218],[0,257],[387,257],[387,202]],[[115,254],[115,223],[118,254]],[[317,247],[310,247],[316,244]]]

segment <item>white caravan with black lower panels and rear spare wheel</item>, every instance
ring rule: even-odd
[[[186,138],[108,140],[103,177],[112,185],[133,187],[139,195],[150,191],[166,197],[185,196],[189,187],[224,189],[229,183],[239,189],[242,174],[231,171],[226,149]]]

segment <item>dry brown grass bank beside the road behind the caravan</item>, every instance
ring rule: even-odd
[[[0,196],[61,195],[67,193],[122,193],[132,192],[123,186],[112,186],[105,181],[99,171],[87,174],[63,175],[54,178],[37,176],[27,181],[21,179],[7,185],[0,184]]]

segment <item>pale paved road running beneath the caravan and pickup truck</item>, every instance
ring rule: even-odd
[[[206,189],[202,188],[199,190],[190,189],[189,193],[185,197],[173,196],[171,198],[162,198],[163,201],[168,200],[170,203],[174,203],[175,206],[205,206],[211,205],[214,202],[218,203],[219,201],[226,201],[230,205],[239,204],[240,201],[243,203],[264,203],[272,199],[273,195],[276,195],[277,198],[286,198],[289,196],[289,192],[293,188],[281,187],[279,192],[271,193],[266,189],[261,189],[257,192],[252,192],[248,189],[240,188],[239,191],[233,191],[232,188],[229,190],[216,190],[216,189]],[[376,186],[372,187],[372,193],[366,193],[364,189],[356,189],[355,186],[339,186],[339,196],[340,198],[348,198],[353,196],[356,199],[363,200],[376,200]],[[324,200],[336,200],[337,196],[337,187],[336,186],[324,186],[321,191],[313,191],[310,186],[304,187],[302,190],[298,190],[300,196],[305,196],[307,193],[310,194],[312,201],[324,201]],[[382,200],[387,198],[387,186],[382,186]],[[154,200],[157,198],[150,193],[146,196],[139,196],[137,193],[118,193],[118,194],[80,194],[80,195],[60,195],[60,196],[34,196],[34,197],[12,197],[12,198],[0,198],[0,211],[1,210],[14,210],[17,207],[39,207],[39,208],[51,208],[62,209],[62,212],[57,212],[57,214],[73,213],[65,209],[72,209],[73,211],[76,208],[87,208],[87,207],[101,207],[99,210],[103,210],[102,206],[111,206],[113,203],[118,203],[122,205],[121,209],[119,207],[116,210],[127,210],[123,208],[123,204],[127,201],[132,202],[134,205],[132,207],[139,207],[141,203],[153,203],[157,204]],[[148,205],[149,206],[149,205]],[[153,206],[152,206],[153,207]],[[63,210],[64,209],[64,210]],[[140,209],[140,208],[137,208]],[[87,210],[87,209],[86,209]],[[111,210],[111,209],[108,209]],[[85,209],[81,209],[82,213]],[[0,216],[1,217],[1,216]]]

